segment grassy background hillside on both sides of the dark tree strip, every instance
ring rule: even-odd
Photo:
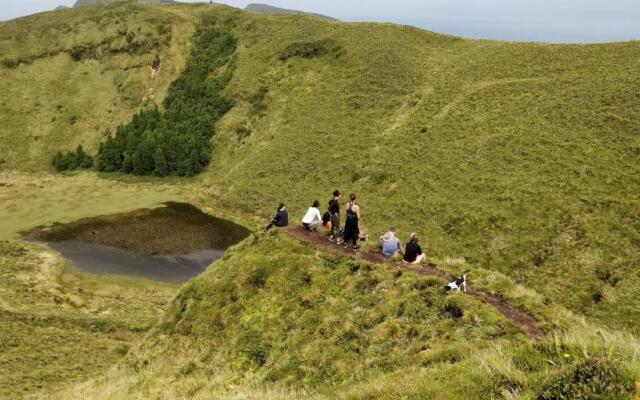
[[[159,103],[205,11],[239,42],[226,89],[235,106],[201,178],[217,205],[266,217],[284,200],[295,217],[335,188],[358,192],[372,235],[418,231],[435,262],[500,271],[639,329],[639,42],[462,40],[217,5],[45,13],[2,25],[4,168],[47,169],[57,150],[95,149],[106,128]],[[98,17],[109,29],[96,30]],[[122,25],[147,32],[132,41],[147,45],[68,54],[104,41],[99,32],[126,43]],[[65,26],[78,33],[48,46]],[[144,103],[156,51],[166,62]]]

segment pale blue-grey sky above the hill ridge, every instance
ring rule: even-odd
[[[219,0],[244,8],[252,1]],[[597,43],[640,39],[638,0],[254,0],[343,21],[395,22],[469,38]],[[0,20],[74,0],[0,0]]]

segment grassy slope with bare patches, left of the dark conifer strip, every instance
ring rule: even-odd
[[[1,164],[42,170],[58,150],[95,151],[106,130],[161,101],[201,9],[164,7],[97,5],[0,24]]]

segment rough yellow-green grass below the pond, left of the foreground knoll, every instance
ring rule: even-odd
[[[0,397],[62,389],[115,364],[177,287],[66,270],[36,245],[0,241]]]

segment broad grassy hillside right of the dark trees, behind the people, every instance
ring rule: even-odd
[[[639,42],[237,15],[237,104],[202,178],[222,205],[267,216],[283,200],[300,218],[357,192],[374,237],[417,231],[436,263],[500,271],[638,331]],[[342,50],[287,58],[322,39]]]

